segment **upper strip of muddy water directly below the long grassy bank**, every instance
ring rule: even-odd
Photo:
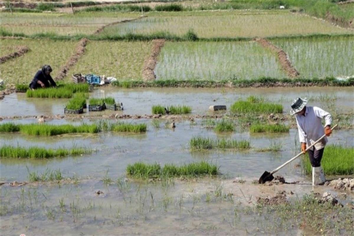
[[[95,89],[92,97],[112,96],[124,105],[123,114],[151,114],[153,105],[188,105],[194,114],[206,114],[210,105],[230,107],[238,99],[250,95],[265,96],[268,100],[281,103],[284,112],[297,96],[309,98],[309,105],[323,108],[335,107],[339,112],[354,112],[354,88],[246,88],[246,89],[191,89],[191,88],[141,88]],[[0,116],[55,115],[64,114],[67,99],[28,99],[25,94],[11,94],[0,101]],[[16,109],[13,107],[16,106]],[[101,114],[112,111],[101,112]],[[87,114],[87,113],[86,113]],[[93,113],[97,114],[97,113]]]

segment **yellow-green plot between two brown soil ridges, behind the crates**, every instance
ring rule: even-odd
[[[117,79],[141,79],[143,63],[150,50],[150,42],[91,41],[68,76],[93,73]]]

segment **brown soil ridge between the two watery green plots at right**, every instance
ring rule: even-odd
[[[290,60],[282,49],[270,43],[267,39],[255,38],[255,41],[261,44],[263,47],[269,48],[278,55],[281,67],[284,69],[284,71],[286,71],[290,78],[297,78],[300,75],[300,73],[291,65]]]

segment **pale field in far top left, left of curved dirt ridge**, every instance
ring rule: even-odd
[[[102,16],[90,14],[58,14],[58,13],[1,13],[0,27],[11,33],[26,35],[38,33],[55,33],[59,35],[93,34],[105,24],[132,19],[122,16]]]

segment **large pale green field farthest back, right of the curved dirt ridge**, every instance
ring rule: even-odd
[[[351,33],[350,30],[332,26],[309,16],[295,15],[287,11],[194,12],[175,13],[176,16],[152,16],[105,28],[102,34],[125,35],[169,32],[182,36],[193,29],[199,38],[267,37],[305,34]],[[169,14],[170,15],[170,14]],[[304,27],[306,26],[306,27]]]

